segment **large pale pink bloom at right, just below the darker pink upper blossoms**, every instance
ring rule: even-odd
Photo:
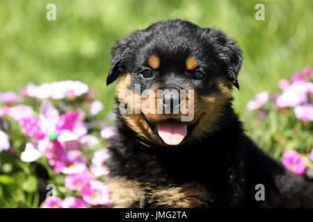
[[[284,92],[278,96],[276,105],[279,108],[294,107],[307,102],[307,96],[313,83],[296,82],[289,86]]]

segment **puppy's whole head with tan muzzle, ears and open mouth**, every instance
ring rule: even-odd
[[[119,75],[119,115],[145,142],[200,139],[230,105],[241,51],[214,28],[174,20],[135,31],[113,48],[107,84]]]

